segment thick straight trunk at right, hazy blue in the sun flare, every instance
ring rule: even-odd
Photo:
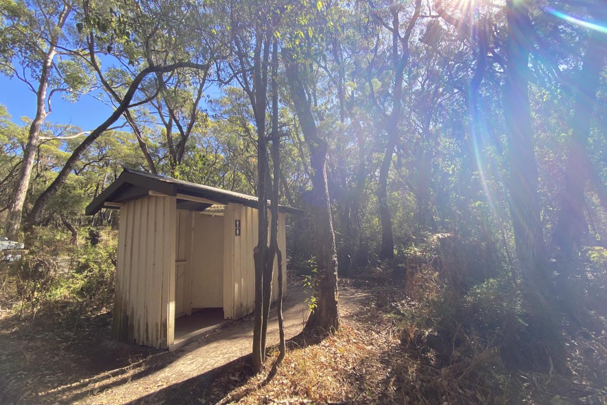
[[[551,302],[549,261],[540,219],[538,171],[529,109],[527,41],[531,38],[529,32],[532,27],[525,6],[513,1],[508,0],[506,3],[509,37],[506,44],[507,69],[504,83],[509,164],[508,203],[518,263],[523,275],[523,304],[532,335],[543,342],[541,347],[532,345],[537,350],[538,357],[546,353],[544,344],[548,345],[550,356],[545,364],[535,366],[548,369],[548,361],[552,361],[558,371],[565,372],[561,330]]]

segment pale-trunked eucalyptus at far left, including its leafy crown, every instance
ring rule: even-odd
[[[36,96],[35,115],[4,228],[9,239],[19,235],[40,131],[52,112],[53,95],[64,93],[75,99],[92,84],[86,67],[63,51],[73,46],[69,22],[76,7],[69,0],[0,4],[0,70],[23,81]]]

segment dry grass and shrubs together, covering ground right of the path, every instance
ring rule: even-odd
[[[601,328],[563,334],[568,373],[538,370],[545,356],[534,352],[519,274],[504,264],[483,271],[490,260],[481,244],[467,243],[429,234],[393,262],[355,270],[341,296],[362,294],[364,310],[345,310],[344,326],[324,339],[294,338],[269,380],[243,375],[242,366],[226,375],[227,385],[233,373],[245,381],[222,403],[606,403],[605,307],[594,312]],[[456,259],[447,256],[455,250]],[[587,307],[603,300],[594,292],[607,286],[602,257],[588,256]]]

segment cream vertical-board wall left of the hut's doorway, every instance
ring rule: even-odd
[[[114,335],[168,347],[173,339],[175,197],[143,197],[120,209]]]

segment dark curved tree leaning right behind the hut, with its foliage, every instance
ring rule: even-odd
[[[114,46],[126,49],[126,55],[132,55],[129,60],[131,67],[128,68],[128,70],[132,69],[131,75],[122,75],[126,84],[120,83],[121,92],[124,93],[122,95],[117,92],[121,101],[115,106],[115,111],[73,150],[55,180],[36,200],[28,217],[28,223],[39,223],[42,211],[66,181],[81,154],[97,137],[107,131],[111,124],[123,117],[128,110],[154,100],[175,71],[208,72],[212,66],[208,49],[200,47],[200,52],[198,52],[198,47],[194,47],[192,44],[193,39],[185,26],[182,30],[175,32],[176,37],[172,36],[172,31],[169,30],[169,27],[174,27],[177,21],[183,22],[184,19],[188,21],[188,16],[194,18],[197,15],[197,9],[196,3],[161,2],[146,5],[129,3],[129,7],[123,5],[118,10],[106,10],[101,7],[99,13],[102,17],[92,18],[83,14],[81,20],[76,22],[76,25],[80,27],[81,35],[95,33],[97,36],[93,36],[97,42],[105,41],[106,49]],[[88,16],[95,16],[95,14],[89,13]],[[195,22],[202,26],[209,22],[208,18],[196,20]],[[192,22],[192,24],[194,23]],[[170,36],[171,39],[166,40],[167,36]],[[197,38],[198,40],[200,38]],[[146,44],[154,45],[146,48]],[[145,54],[139,53],[142,49],[148,52],[147,57],[144,57]],[[154,57],[149,56],[151,54]],[[140,87],[144,91],[139,92]]]

